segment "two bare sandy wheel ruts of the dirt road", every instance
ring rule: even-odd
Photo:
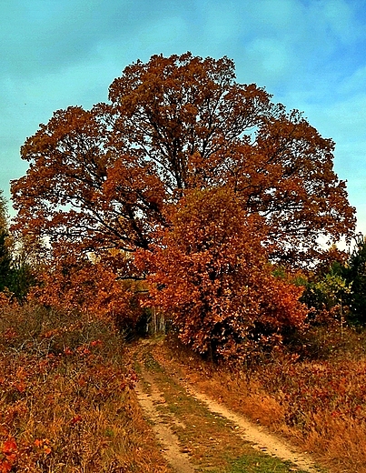
[[[145,347],[145,353],[148,347]],[[152,422],[153,430],[156,437],[162,445],[163,456],[167,459],[176,473],[193,473],[203,471],[193,465],[190,459],[189,448],[182,447],[176,428],[185,428],[183,421],[175,418],[173,413],[169,413],[169,420],[162,416],[162,407],[165,405],[165,392],[154,376],[153,370],[147,370],[143,367],[141,360],[141,352],[138,361],[140,381],[135,389],[137,398],[145,416]],[[171,377],[164,373],[164,376]],[[173,378],[173,377],[171,377]],[[216,416],[226,419],[232,425],[232,436],[239,436],[245,442],[250,442],[252,448],[260,450],[269,456],[281,458],[283,461],[291,462],[292,467],[287,471],[302,471],[307,473],[319,473],[320,468],[317,467],[312,458],[302,454],[282,439],[274,437],[271,433],[257,425],[242,415],[232,412],[225,408],[223,404],[216,402],[213,398],[208,398],[201,392],[198,392],[186,379],[174,379],[183,387],[185,396],[194,398],[204,408],[208,409]],[[214,434],[213,434],[214,436]],[[230,446],[228,446],[229,448]],[[205,470],[205,469],[204,469]]]

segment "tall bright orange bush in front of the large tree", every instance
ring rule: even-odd
[[[301,329],[302,288],[272,275],[262,245],[265,225],[228,188],[185,193],[136,264],[184,343],[213,357],[247,357]]]

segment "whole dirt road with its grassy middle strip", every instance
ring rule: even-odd
[[[308,472],[321,470],[301,454],[186,380],[166,374],[149,345],[136,356],[136,395],[164,457],[176,473]]]

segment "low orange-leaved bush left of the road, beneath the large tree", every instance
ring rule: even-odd
[[[114,261],[117,258],[114,257]],[[120,329],[134,327],[141,308],[133,281],[118,280],[107,258],[77,254],[73,247],[58,244],[38,277],[30,300],[62,312],[81,311],[108,320]]]

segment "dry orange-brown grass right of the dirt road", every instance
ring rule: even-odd
[[[208,396],[215,393],[228,407],[312,452],[331,471],[365,473],[366,334],[314,331],[314,345],[316,337],[325,343],[326,359],[310,359],[307,347],[306,359],[279,351],[250,369],[218,367],[173,339],[157,346],[154,357]]]

